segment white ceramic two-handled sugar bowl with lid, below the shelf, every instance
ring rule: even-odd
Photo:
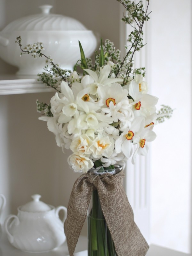
[[[60,246],[65,240],[63,223],[67,208],[53,207],[40,201],[40,195],[18,207],[18,215],[9,215],[4,221],[9,242],[25,252],[47,252]],[[59,218],[60,210],[64,218]],[[10,223],[10,220],[13,219]]]

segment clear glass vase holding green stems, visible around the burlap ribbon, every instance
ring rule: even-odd
[[[122,167],[115,165],[114,169],[96,170],[90,169],[93,175],[102,175],[110,172],[115,175]],[[114,243],[107,227],[97,190],[93,190],[88,208],[88,256],[117,256]]]

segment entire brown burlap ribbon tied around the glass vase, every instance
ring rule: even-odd
[[[94,189],[98,190],[101,209],[117,255],[146,255],[149,246],[134,222],[132,207],[122,185],[123,177],[123,172],[115,175],[84,173],[76,180],[68,203],[67,219],[64,223],[70,256],[73,256],[75,251]]]

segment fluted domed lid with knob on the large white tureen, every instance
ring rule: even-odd
[[[87,30],[84,25],[76,19],[60,14],[50,13],[52,5],[39,6],[42,13],[22,17],[8,24],[3,32],[13,31],[42,31],[42,30]]]

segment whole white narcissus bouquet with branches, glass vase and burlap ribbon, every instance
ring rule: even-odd
[[[116,1],[126,9],[122,20],[132,26],[123,59],[111,41],[101,39],[92,63],[79,42],[81,59],[73,71],[63,70],[43,54],[42,43],[22,47],[20,36],[16,41],[21,54],[45,58],[45,72],[38,76],[56,93],[49,104],[37,100],[37,110],[44,114],[39,119],[47,122],[63,151],[72,151],[71,168],[83,172],[72,189],[65,221],[70,255],[91,196],[88,255],[138,256],[148,250],[122,186],[121,166],[130,157],[134,164],[137,154],[147,154],[148,142],[156,138],[154,126],[169,118],[172,109],[163,106],[156,111],[158,99],[148,94],[145,68],[133,68],[133,56],[144,46],[142,28],[149,20],[149,0],[146,10],[142,1]]]

